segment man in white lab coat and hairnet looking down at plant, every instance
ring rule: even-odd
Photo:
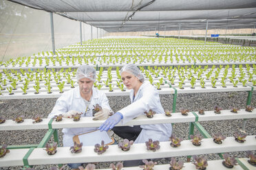
[[[96,104],[102,107],[94,117],[96,119],[107,119],[111,108],[109,101],[100,90],[95,89],[94,81],[96,80],[96,70],[93,66],[79,66],[76,71],[76,79],[78,87],[69,90],[56,101],[52,112],[48,118],[54,117],[56,114],[63,114],[65,118],[72,118],[72,114],[79,113],[81,117],[92,117],[92,110]],[[74,145],[73,136],[97,130],[98,127],[79,127],[79,128],[63,128],[63,147],[71,147]],[[92,143],[95,145],[96,143]],[[72,169],[78,169],[81,163],[68,164]]]

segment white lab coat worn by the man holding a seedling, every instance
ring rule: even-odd
[[[91,103],[87,108],[87,112],[85,114],[85,102],[83,101],[83,98],[80,95],[79,87],[77,86],[76,88],[63,93],[63,95],[61,95],[61,97],[57,99],[56,104],[52,109],[52,112],[48,115],[48,118],[52,118],[56,114],[68,112],[69,110],[76,110],[78,112],[82,112],[83,114],[81,115],[81,117],[92,117],[92,109],[96,104],[99,104],[102,108],[107,108],[111,110],[111,108],[109,107],[109,101],[105,93],[95,88],[92,88]],[[71,147],[74,145],[73,136],[97,129],[98,127],[63,128],[63,146]],[[96,143],[92,143],[92,145],[95,144]]]

